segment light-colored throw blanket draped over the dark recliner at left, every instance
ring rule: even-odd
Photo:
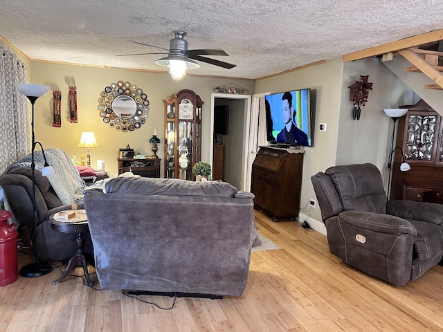
[[[48,164],[54,168],[54,173],[48,175],[48,181],[54,188],[60,201],[66,204],[80,203],[83,201],[83,190],[86,184],[80,177],[71,158],[62,149],[47,149],[44,151]],[[42,170],[44,167],[44,158],[42,151],[34,151],[35,168]],[[15,167],[28,166],[32,162],[31,154],[21,158],[17,164],[12,165],[6,171],[6,174]]]

